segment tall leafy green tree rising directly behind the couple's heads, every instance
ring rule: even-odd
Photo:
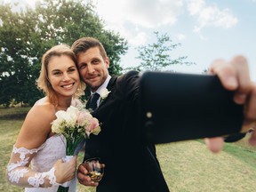
[[[109,73],[119,75],[121,55],[126,53],[127,41],[120,36],[104,29],[104,21],[94,11],[92,1],[87,4],[80,1],[44,0],[44,5],[36,5],[36,14],[42,22],[39,23],[41,35],[45,40],[53,40],[54,44],[61,42],[73,44],[81,36],[93,36],[104,45],[111,61]]]

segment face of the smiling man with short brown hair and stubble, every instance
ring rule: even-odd
[[[109,61],[100,55],[98,47],[92,47],[77,55],[78,69],[84,83],[95,92],[108,77]]]

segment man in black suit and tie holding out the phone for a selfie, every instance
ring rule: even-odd
[[[86,186],[98,186],[99,192],[169,191],[156,158],[155,146],[146,145],[140,139],[138,72],[130,71],[119,77],[109,76],[108,56],[95,38],[80,38],[71,48],[76,53],[80,75],[91,92],[100,94],[104,88],[109,91],[105,100],[96,101],[98,108],[94,109],[92,115],[100,120],[101,132],[86,140],[84,156],[84,160],[99,156],[106,164],[104,176],[100,183],[93,183],[85,176],[87,171],[84,165],[80,164],[77,174],[79,182]],[[226,89],[236,90],[237,103],[248,102],[252,107],[248,98],[252,91],[255,92],[255,87],[252,87],[249,74],[244,75],[247,70],[246,65],[223,64],[220,61],[211,68],[211,72],[220,77]],[[255,95],[252,98],[255,100]],[[255,107],[247,108],[247,112],[253,109]],[[248,120],[247,117],[244,116],[245,120]],[[255,114],[250,117],[256,119]],[[219,139],[210,141],[212,151],[218,143]]]

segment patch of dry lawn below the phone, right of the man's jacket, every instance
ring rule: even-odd
[[[170,190],[255,191],[255,150],[239,157],[228,151],[227,146],[234,148],[236,154],[246,151],[236,144],[226,144],[224,151],[212,154],[196,140],[158,146],[158,158]],[[243,158],[249,160],[245,162]]]

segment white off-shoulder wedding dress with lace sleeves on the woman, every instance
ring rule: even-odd
[[[63,135],[54,135],[41,147],[35,149],[13,146],[12,159],[7,165],[8,180],[18,186],[31,186],[25,188],[26,192],[56,192],[59,184],[56,183],[55,170],[52,166],[64,156],[66,156],[66,139]],[[44,178],[50,180],[52,187],[39,188],[44,184]],[[71,181],[68,191],[76,191],[76,178]]]

